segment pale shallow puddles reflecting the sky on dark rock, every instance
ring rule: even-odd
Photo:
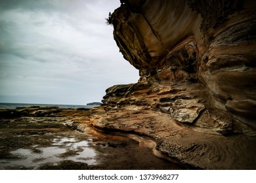
[[[74,137],[58,137],[53,139],[52,146],[32,149],[19,148],[11,151],[9,159],[0,159],[0,169],[32,168],[37,169],[45,163],[58,163],[62,160],[79,161],[88,165],[96,164],[96,153],[89,146],[89,141],[78,141]]]

